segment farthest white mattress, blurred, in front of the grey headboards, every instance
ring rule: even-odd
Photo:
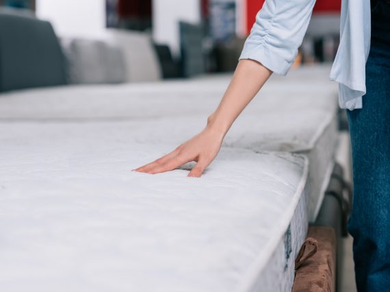
[[[327,73],[328,68],[324,67],[292,71],[283,79],[274,75],[245,112],[257,115],[302,109],[335,112],[337,86],[326,81]],[[317,75],[322,77],[318,79]],[[218,106],[230,79],[231,75],[222,75],[142,84],[21,90],[0,95],[0,120],[118,120],[192,115],[206,119]]]

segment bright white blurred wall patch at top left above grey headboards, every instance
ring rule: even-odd
[[[36,0],[36,13],[59,36],[96,38],[105,32],[105,0]]]

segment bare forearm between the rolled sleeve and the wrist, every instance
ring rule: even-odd
[[[207,120],[207,127],[224,136],[271,74],[259,62],[240,60],[218,108]]]

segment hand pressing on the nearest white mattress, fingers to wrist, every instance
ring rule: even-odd
[[[223,138],[223,132],[214,129],[210,123],[207,123],[205,130],[179,145],[174,151],[143,167],[134,169],[134,171],[155,174],[176,169],[187,162],[196,161],[196,166],[188,176],[199,178],[205,168],[216,158]]]

